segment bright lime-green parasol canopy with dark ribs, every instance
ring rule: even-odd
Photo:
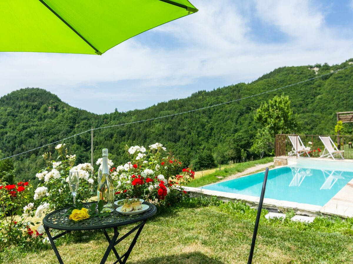
[[[197,11],[187,0],[0,0],[0,51],[101,55]]]

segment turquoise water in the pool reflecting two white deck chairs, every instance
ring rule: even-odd
[[[204,186],[203,189],[260,197],[265,173]],[[268,173],[265,198],[324,206],[353,178],[353,172],[285,166]]]

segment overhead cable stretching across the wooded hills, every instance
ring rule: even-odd
[[[353,67],[353,65],[349,65],[349,66],[344,67],[344,68],[342,68],[342,69],[338,69],[338,70],[335,70],[335,71],[331,71],[330,73],[326,73],[326,74],[323,74],[323,75],[320,75],[320,76],[316,76],[316,77],[313,77],[313,78],[310,78],[310,79],[307,79],[307,80],[304,80],[304,81],[300,81],[300,82],[288,84],[288,85],[282,86],[282,87],[280,87],[280,88],[268,90],[268,91],[265,91],[265,92],[262,92],[262,93],[258,93],[258,94],[249,95],[249,96],[246,96],[246,97],[243,97],[243,98],[231,100],[231,101],[224,102],[224,103],[217,103],[216,105],[205,106],[205,107],[201,107],[201,108],[197,108],[197,109],[192,109],[192,110],[189,110],[189,111],[180,112],[180,113],[175,113],[175,114],[163,115],[162,117],[149,118],[149,119],[144,119],[144,120],[139,120],[139,121],[133,121],[133,122],[127,122],[127,123],[118,124],[118,125],[112,125],[112,126],[96,127],[96,128],[93,128],[93,130],[103,129],[103,128],[109,128],[109,127],[115,127],[115,126],[124,126],[124,125],[136,124],[136,123],[141,123],[141,122],[146,122],[146,121],[151,121],[151,120],[156,120],[156,119],[161,119],[161,118],[166,118],[166,117],[173,117],[173,116],[175,116],[175,115],[191,113],[191,112],[195,112],[195,111],[199,111],[199,110],[203,110],[203,109],[207,109],[207,108],[211,108],[211,107],[226,105],[227,103],[232,103],[232,102],[237,102],[237,101],[241,101],[241,100],[244,100],[244,99],[249,99],[249,98],[252,98],[252,97],[255,97],[255,96],[259,96],[259,95],[262,95],[262,94],[272,93],[272,92],[275,92],[275,91],[278,91],[278,90],[281,90],[281,89],[285,89],[285,88],[288,88],[288,87],[292,87],[292,86],[295,86],[295,85],[298,85],[298,84],[301,84],[301,83],[313,81],[313,80],[316,80],[316,79],[318,79],[318,78],[321,78],[321,77],[324,77],[324,76],[327,76],[327,75],[330,75],[330,74],[334,74],[334,73],[337,73],[337,72],[340,71],[340,70],[345,70],[345,69],[348,69],[348,68],[351,68],[351,67]],[[79,136],[79,135],[81,135],[81,134],[84,134],[84,133],[87,133],[87,132],[90,132],[90,131],[92,131],[92,129],[86,130],[86,131],[84,131],[84,132],[75,134],[75,135],[70,136],[70,137],[67,137],[67,138],[63,138],[63,139],[57,140],[57,141],[55,141],[55,142],[52,142],[52,143],[49,143],[49,144],[46,144],[46,145],[43,145],[43,146],[40,146],[40,147],[36,147],[35,149],[27,150],[27,151],[24,151],[24,152],[21,152],[21,153],[12,155],[12,156],[8,156],[8,157],[6,157],[6,158],[2,158],[2,159],[0,159],[0,161],[3,160],[3,159],[8,159],[8,158],[12,158],[12,157],[19,156],[19,155],[22,155],[22,154],[24,154],[24,153],[31,152],[31,151],[33,151],[33,150],[41,149],[42,147],[46,147],[46,146],[49,146],[49,145],[53,145],[53,144],[59,143],[59,142],[61,142],[61,141],[63,141],[63,140],[66,140],[66,139],[69,139],[69,138],[72,138],[72,137],[76,137],[76,136]]]

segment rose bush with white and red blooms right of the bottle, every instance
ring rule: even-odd
[[[195,172],[185,168],[160,143],[150,145],[148,150],[143,146],[126,146],[125,151],[131,162],[110,169],[115,194],[120,199],[139,197],[169,205],[179,199],[183,191],[180,184],[194,178]]]

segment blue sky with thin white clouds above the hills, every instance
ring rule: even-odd
[[[192,0],[196,14],[102,56],[0,54],[0,96],[40,87],[94,113],[250,82],[282,66],[353,57],[353,0]]]

